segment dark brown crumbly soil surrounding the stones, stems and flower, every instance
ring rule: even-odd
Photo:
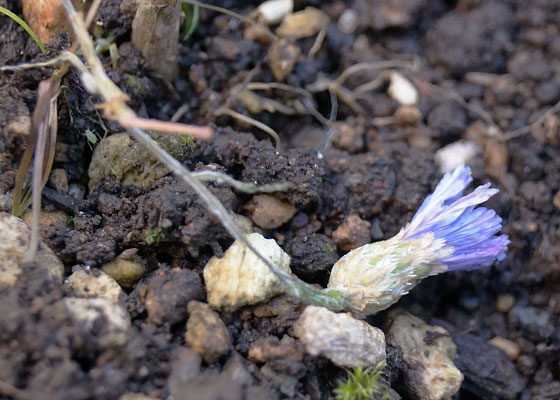
[[[326,283],[330,266],[344,254],[333,232],[346,217],[369,222],[365,237],[373,241],[391,237],[441,177],[435,151],[466,138],[483,146],[484,152],[469,165],[474,184],[491,181],[500,189],[487,206],[504,219],[503,230],[511,239],[506,259],[485,270],[427,279],[398,306],[453,335],[456,365],[465,376],[455,398],[560,398],[559,113],[509,134],[534,123],[560,101],[558,1],[379,2],[406,17],[397,26],[384,16],[390,13],[387,8],[375,9],[374,1],[296,1],[297,10],[318,7],[333,21],[348,8],[360,11],[362,18],[350,34],[331,23],[316,56],[303,57],[286,83],[305,87],[320,75],[335,79],[359,62],[417,57],[419,67],[402,72],[420,92],[422,117],[414,125],[381,123],[380,117],[398,108],[386,86],[359,100],[367,110],[359,118],[339,99],[336,121],[358,133],[350,141],[335,138],[326,149],[327,132],[309,115],[253,115],[279,132],[279,152],[261,131],[213,116],[226,102],[245,111],[230,98],[230,90],[247,79],[249,71],[252,81],[274,81],[263,62],[268,45],[244,39],[238,21],[202,10],[194,36],[180,43],[179,77],[164,82],[145,68],[129,42],[133,14],[119,8],[120,3],[104,1],[100,9],[106,34],[117,38],[121,57],[113,70],[108,53],[102,55],[109,76],[130,95],[129,104],[141,116],[169,120],[186,103],[182,122],[214,124],[215,137],[197,142],[184,162],[190,169],[210,166],[244,181],[293,184],[277,196],[298,213],[266,235],[290,254],[292,270],[306,281]],[[259,2],[219,3],[248,15]],[[17,1],[0,0],[0,5],[21,12]],[[63,35],[42,55],[22,28],[0,16],[0,65],[44,61],[70,43]],[[314,37],[297,44],[307,55]],[[13,189],[26,145],[21,135],[8,134],[8,125],[32,112],[38,83],[51,73],[43,68],[0,75],[0,195]],[[379,73],[356,74],[346,85],[356,87]],[[94,108],[98,99],[85,92],[74,72],[66,75],[62,87],[54,168],[64,169],[69,183],[85,190],[92,151],[83,132],[104,136],[104,125],[111,132],[122,129],[102,122]],[[280,90],[263,93],[284,104],[299,99]],[[328,117],[328,93],[314,98]],[[486,134],[487,116],[501,133]],[[209,187],[226,208],[248,215],[244,206],[251,196],[224,184]],[[168,176],[154,187],[140,188],[106,178],[83,199],[56,194],[52,187],[43,197],[46,210],[60,209],[72,218],[72,224],[63,227],[42,227],[68,275],[75,266],[95,269],[132,248],[139,249],[149,271],[128,289],[125,304],[133,328],[126,344],[111,350],[99,350],[95,336],[81,336],[83,330],[61,307],[66,289],[46,284],[40,274],[30,274],[25,284],[1,293],[0,398],[129,398],[121,397],[125,393],[174,399],[332,396],[344,370],[303,354],[290,336],[302,307],[285,296],[220,314],[234,350],[211,365],[185,345],[187,303],[205,300],[202,268],[232,239],[182,181]],[[9,211],[4,200],[0,210]],[[147,243],[146,235],[153,231],[162,233],[161,240]],[[515,306],[499,312],[497,298],[506,293],[515,298]],[[368,319],[379,327],[384,320],[385,313]],[[495,336],[516,343],[520,355],[511,360],[490,346],[487,341]],[[256,348],[270,356],[251,359],[249,350]],[[386,383],[407,398],[399,383],[400,369],[407,368],[399,351],[388,348]]]

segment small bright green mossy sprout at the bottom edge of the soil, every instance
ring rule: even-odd
[[[385,368],[385,360],[374,368],[356,367],[348,371],[346,379],[338,381],[334,394],[337,400],[390,399],[391,396],[379,385],[379,378]]]

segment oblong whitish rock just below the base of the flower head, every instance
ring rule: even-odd
[[[314,356],[343,367],[375,366],[385,359],[385,335],[352,314],[337,314],[307,306],[294,325],[294,334]]]

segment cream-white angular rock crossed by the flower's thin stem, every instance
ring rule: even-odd
[[[258,233],[246,236],[273,265],[290,270],[290,256],[274,239]],[[234,311],[241,306],[266,301],[283,292],[280,280],[255,254],[235,241],[224,257],[212,257],[204,267],[208,304],[213,308]]]

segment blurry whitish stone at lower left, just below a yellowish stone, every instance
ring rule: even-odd
[[[81,336],[85,340],[94,339],[96,341],[94,345],[98,350],[114,348],[126,343],[130,317],[120,305],[103,297],[90,299],[66,297],[62,302],[81,332]]]

